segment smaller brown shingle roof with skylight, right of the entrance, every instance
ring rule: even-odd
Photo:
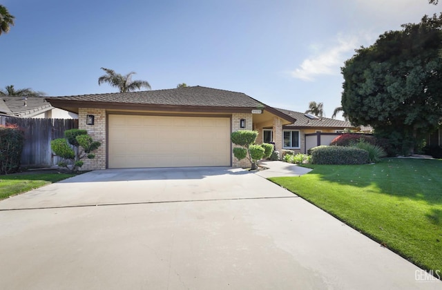
[[[280,112],[294,117],[296,122],[291,125],[287,125],[287,127],[332,127],[332,128],[354,128],[350,122],[330,119],[326,117],[320,117],[319,119],[310,119],[305,115],[305,113],[295,112],[293,110],[285,110],[281,108],[276,108]]]

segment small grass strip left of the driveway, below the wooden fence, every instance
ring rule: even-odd
[[[46,184],[59,182],[75,174],[68,173],[33,173],[33,174],[11,174],[0,176],[0,200],[37,189]]]

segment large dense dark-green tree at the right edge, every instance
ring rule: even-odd
[[[407,154],[442,117],[442,14],[402,28],[345,61],[341,104],[352,123],[371,125]]]

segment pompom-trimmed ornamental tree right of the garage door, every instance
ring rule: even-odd
[[[257,168],[256,162],[265,155],[265,148],[254,144],[256,137],[258,137],[258,132],[249,130],[240,130],[231,134],[233,144],[241,146],[233,148],[233,155],[238,160],[247,158],[250,161],[250,168],[252,170]]]

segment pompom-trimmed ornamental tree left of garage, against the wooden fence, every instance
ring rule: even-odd
[[[92,153],[97,150],[101,145],[98,141],[93,141],[86,130],[71,129],[64,132],[65,138],[59,138],[50,142],[50,148],[54,151],[55,155],[62,157],[64,162],[59,162],[59,166],[66,167],[70,171],[77,171],[77,168],[81,168],[84,162],[82,159],[85,157],[88,159],[95,158]],[[70,162],[68,162],[70,161]],[[72,163],[72,168],[69,168],[69,164]]]

